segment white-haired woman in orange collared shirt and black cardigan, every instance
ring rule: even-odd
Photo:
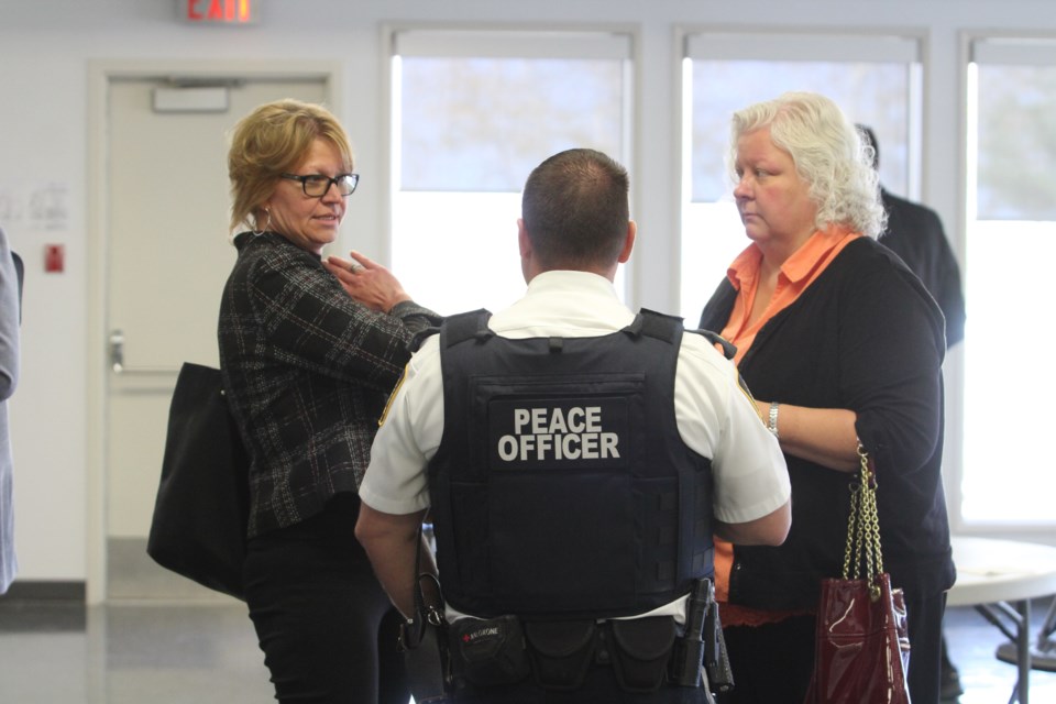
[[[803,702],[821,580],[843,572],[859,444],[879,487],[883,566],[905,591],[910,692],[938,701],[954,582],[939,475],[944,324],[920,279],[876,241],[884,212],[870,157],[823,96],[785,94],[733,118],[734,196],[751,243],[701,328],[737,346],[788,462],[793,517],[780,547],[716,541],[732,702]]]

